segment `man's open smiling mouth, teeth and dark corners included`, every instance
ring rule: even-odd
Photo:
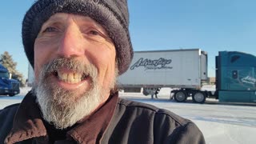
[[[89,77],[88,74],[80,74],[76,72],[61,72],[61,71],[54,71],[54,76],[58,78],[62,82],[75,84],[86,80]]]

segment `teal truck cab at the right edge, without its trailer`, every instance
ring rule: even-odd
[[[238,51],[220,51],[216,57],[219,102],[256,102],[256,57]]]

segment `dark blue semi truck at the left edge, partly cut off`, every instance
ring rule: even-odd
[[[14,96],[19,93],[19,82],[15,79],[11,79],[10,73],[6,67],[0,64],[0,95]]]

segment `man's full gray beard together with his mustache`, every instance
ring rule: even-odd
[[[62,60],[57,63],[59,63],[60,66],[66,65]],[[81,65],[81,63],[74,63],[72,63],[71,69],[77,69],[78,65]],[[88,74],[92,79],[92,84],[90,90],[86,90],[81,95],[76,94],[75,90],[65,90],[62,89],[62,87],[49,83],[47,74],[58,69],[58,64],[56,66],[53,62],[46,64],[46,66],[42,68],[38,83],[33,87],[33,92],[37,97],[38,105],[42,111],[42,118],[58,129],[73,126],[76,122],[82,120],[82,118],[90,115],[102,103],[102,99],[104,98],[103,94],[107,92],[107,90],[102,90],[102,86],[98,86],[97,69],[93,65],[82,65],[82,69],[85,67],[87,71],[89,71]],[[118,74],[118,70],[116,73]],[[114,86],[114,82],[110,87]],[[110,89],[108,91],[110,91]]]

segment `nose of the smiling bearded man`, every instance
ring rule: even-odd
[[[58,55],[63,58],[78,57],[83,54],[81,34],[76,26],[70,26],[63,33],[58,45]]]

